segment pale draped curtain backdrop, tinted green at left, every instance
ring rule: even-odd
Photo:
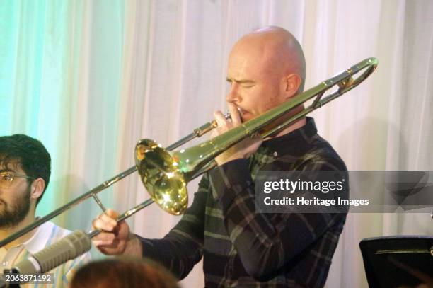
[[[32,126],[33,136],[47,144],[55,155],[54,188],[69,191],[55,192],[57,204],[132,166],[138,139],[156,139],[167,146],[211,120],[214,110],[226,110],[229,51],[241,35],[265,25],[286,28],[301,42],[306,88],[364,58],[379,59],[377,71],[361,86],[313,113],[319,134],[350,170],[433,170],[433,1],[67,3],[45,3],[44,15],[62,11],[67,21],[62,13],[45,18],[46,35],[34,40],[44,46],[41,84],[28,87],[59,98],[41,98],[18,111],[17,99],[33,96],[16,89],[2,96],[6,104],[0,108],[12,124],[23,122],[18,115],[40,111],[32,124],[36,129],[15,124],[2,134],[28,132]],[[33,13],[25,10],[25,1],[21,5],[20,15]],[[22,25],[23,20],[11,21]],[[47,49],[58,43],[67,43],[62,54]],[[1,47],[17,50],[16,59],[34,57],[19,37],[12,44],[2,42]],[[60,67],[59,74],[48,78],[53,67]],[[25,70],[21,74],[32,73]],[[30,85],[17,79],[13,85]],[[59,81],[56,91],[43,89]],[[57,112],[48,110],[50,101],[60,102]],[[188,186],[191,197],[196,185],[197,180]],[[122,211],[148,196],[139,178],[132,176],[102,197]],[[89,203],[57,221],[69,229],[85,229],[98,213]],[[178,219],[151,205],[128,221],[137,234],[160,238]],[[432,235],[433,220],[426,213],[350,214],[326,286],[366,287],[359,241],[396,234]],[[100,257],[96,251],[93,255]],[[183,287],[203,284],[201,264],[182,282]]]

